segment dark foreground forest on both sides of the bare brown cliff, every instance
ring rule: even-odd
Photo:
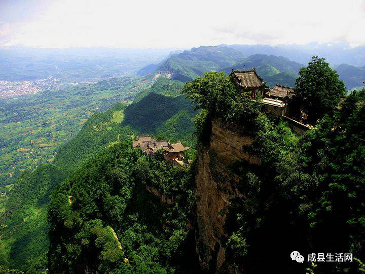
[[[256,140],[249,152],[262,160],[260,167],[244,160],[232,165],[245,199],[231,200],[227,209],[229,267],[304,272],[308,263],[283,260],[296,249],[352,252],[363,258],[365,91],[351,93],[303,136],[268,117],[257,102],[237,96],[224,73],[189,82],[184,92],[203,110],[196,118],[202,145],[209,145],[209,121],[234,122],[248,129]],[[130,141],[101,151],[52,195],[49,266],[65,272],[190,271],[181,262],[196,262],[189,257],[195,248],[189,225],[194,225],[193,180],[194,165],[173,168],[162,155],[146,158],[131,149]],[[175,203],[161,203],[146,186]],[[270,254],[266,264],[263,247]],[[314,269],[356,270],[355,263],[318,263]]]

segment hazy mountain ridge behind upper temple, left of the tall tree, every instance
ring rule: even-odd
[[[157,73],[171,74],[172,79],[186,82],[209,71],[230,74],[232,69],[255,67],[264,81],[273,87],[275,84],[293,86],[303,66],[282,56],[254,54],[244,58],[239,51],[227,47],[199,47],[172,55],[157,68]]]

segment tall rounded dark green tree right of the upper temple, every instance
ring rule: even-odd
[[[295,90],[310,121],[326,113],[332,114],[340,97],[346,94],[345,83],[339,80],[329,63],[318,56],[313,56],[308,66],[300,69]]]

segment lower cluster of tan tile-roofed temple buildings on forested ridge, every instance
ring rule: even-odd
[[[133,141],[133,148],[139,147],[143,154],[153,157],[159,149],[164,150],[164,159],[175,165],[187,165],[188,162],[184,160],[184,151],[190,149],[185,147],[181,142],[170,144],[169,141],[156,141],[151,135],[137,136],[137,140]]]

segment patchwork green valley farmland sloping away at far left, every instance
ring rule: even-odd
[[[0,186],[12,184],[26,168],[52,162],[57,148],[74,138],[93,113],[116,102],[128,104],[154,82],[141,77],[112,78],[0,99]],[[123,113],[113,116],[114,122],[122,120]]]

